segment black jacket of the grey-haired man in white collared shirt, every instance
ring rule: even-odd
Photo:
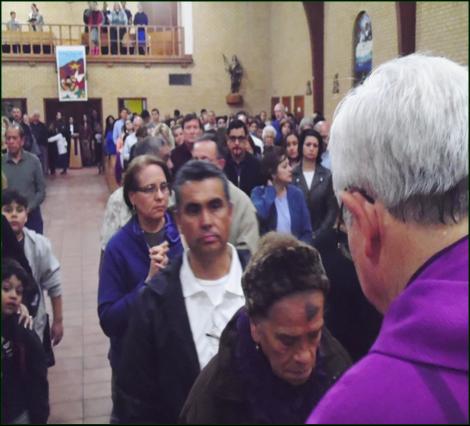
[[[242,267],[248,251],[238,251]],[[199,374],[179,278],[182,256],[143,287],[132,310],[117,371],[122,423],[175,423]]]

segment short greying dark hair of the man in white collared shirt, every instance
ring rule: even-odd
[[[220,179],[224,187],[225,198],[230,201],[228,180],[224,172],[208,161],[190,160],[178,170],[173,182],[176,208],[178,209],[181,206],[181,187],[186,182],[201,182],[210,178]]]

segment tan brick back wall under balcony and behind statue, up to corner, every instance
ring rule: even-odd
[[[23,2],[3,2],[2,11],[16,10],[20,15],[19,6],[12,3]],[[85,2],[70,3],[60,3],[67,11],[64,16],[73,12],[75,17],[79,16],[78,22],[75,18],[73,23],[81,23]],[[46,4],[39,7],[45,17],[51,17],[57,3],[49,8]],[[230,76],[225,71],[222,54],[229,59],[236,54],[245,69],[240,90],[245,100],[243,108],[257,113],[269,105],[270,99],[267,11],[268,3],[193,3],[193,65],[183,69],[177,65],[145,68],[132,64],[115,64],[113,67],[88,64],[88,96],[102,98],[103,116],[116,115],[118,97],[146,97],[148,107],[158,107],[162,115],[172,113],[175,108],[183,113],[199,111],[203,107],[218,114],[235,112],[240,107],[229,107],[225,101],[225,96],[230,93]],[[22,12],[25,13],[26,10]],[[52,20],[51,17],[49,22]],[[191,73],[192,86],[169,86],[170,73]],[[57,97],[55,64],[36,64],[34,67],[2,64],[2,77],[3,97],[26,97],[28,110],[38,109],[42,116],[43,98]]]

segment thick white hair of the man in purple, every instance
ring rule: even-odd
[[[412,54],[379,66],[336,108],[333,185],[365,190],[402,221],[468,216],[468,69]]]

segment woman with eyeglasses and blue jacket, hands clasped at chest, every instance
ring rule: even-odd
[[[170,172],[165,163],[150,155],[131,161],[124,176],[124,201],[133,214],[108,242],[100,270],[98,315],[110,338],[109,360],[115,371],[130,306],[145,282],[183,252],[178,229],[168,211]],[[113,409],[113,412],[115,410]],[[113,414],[111,420],[117,421]]]

